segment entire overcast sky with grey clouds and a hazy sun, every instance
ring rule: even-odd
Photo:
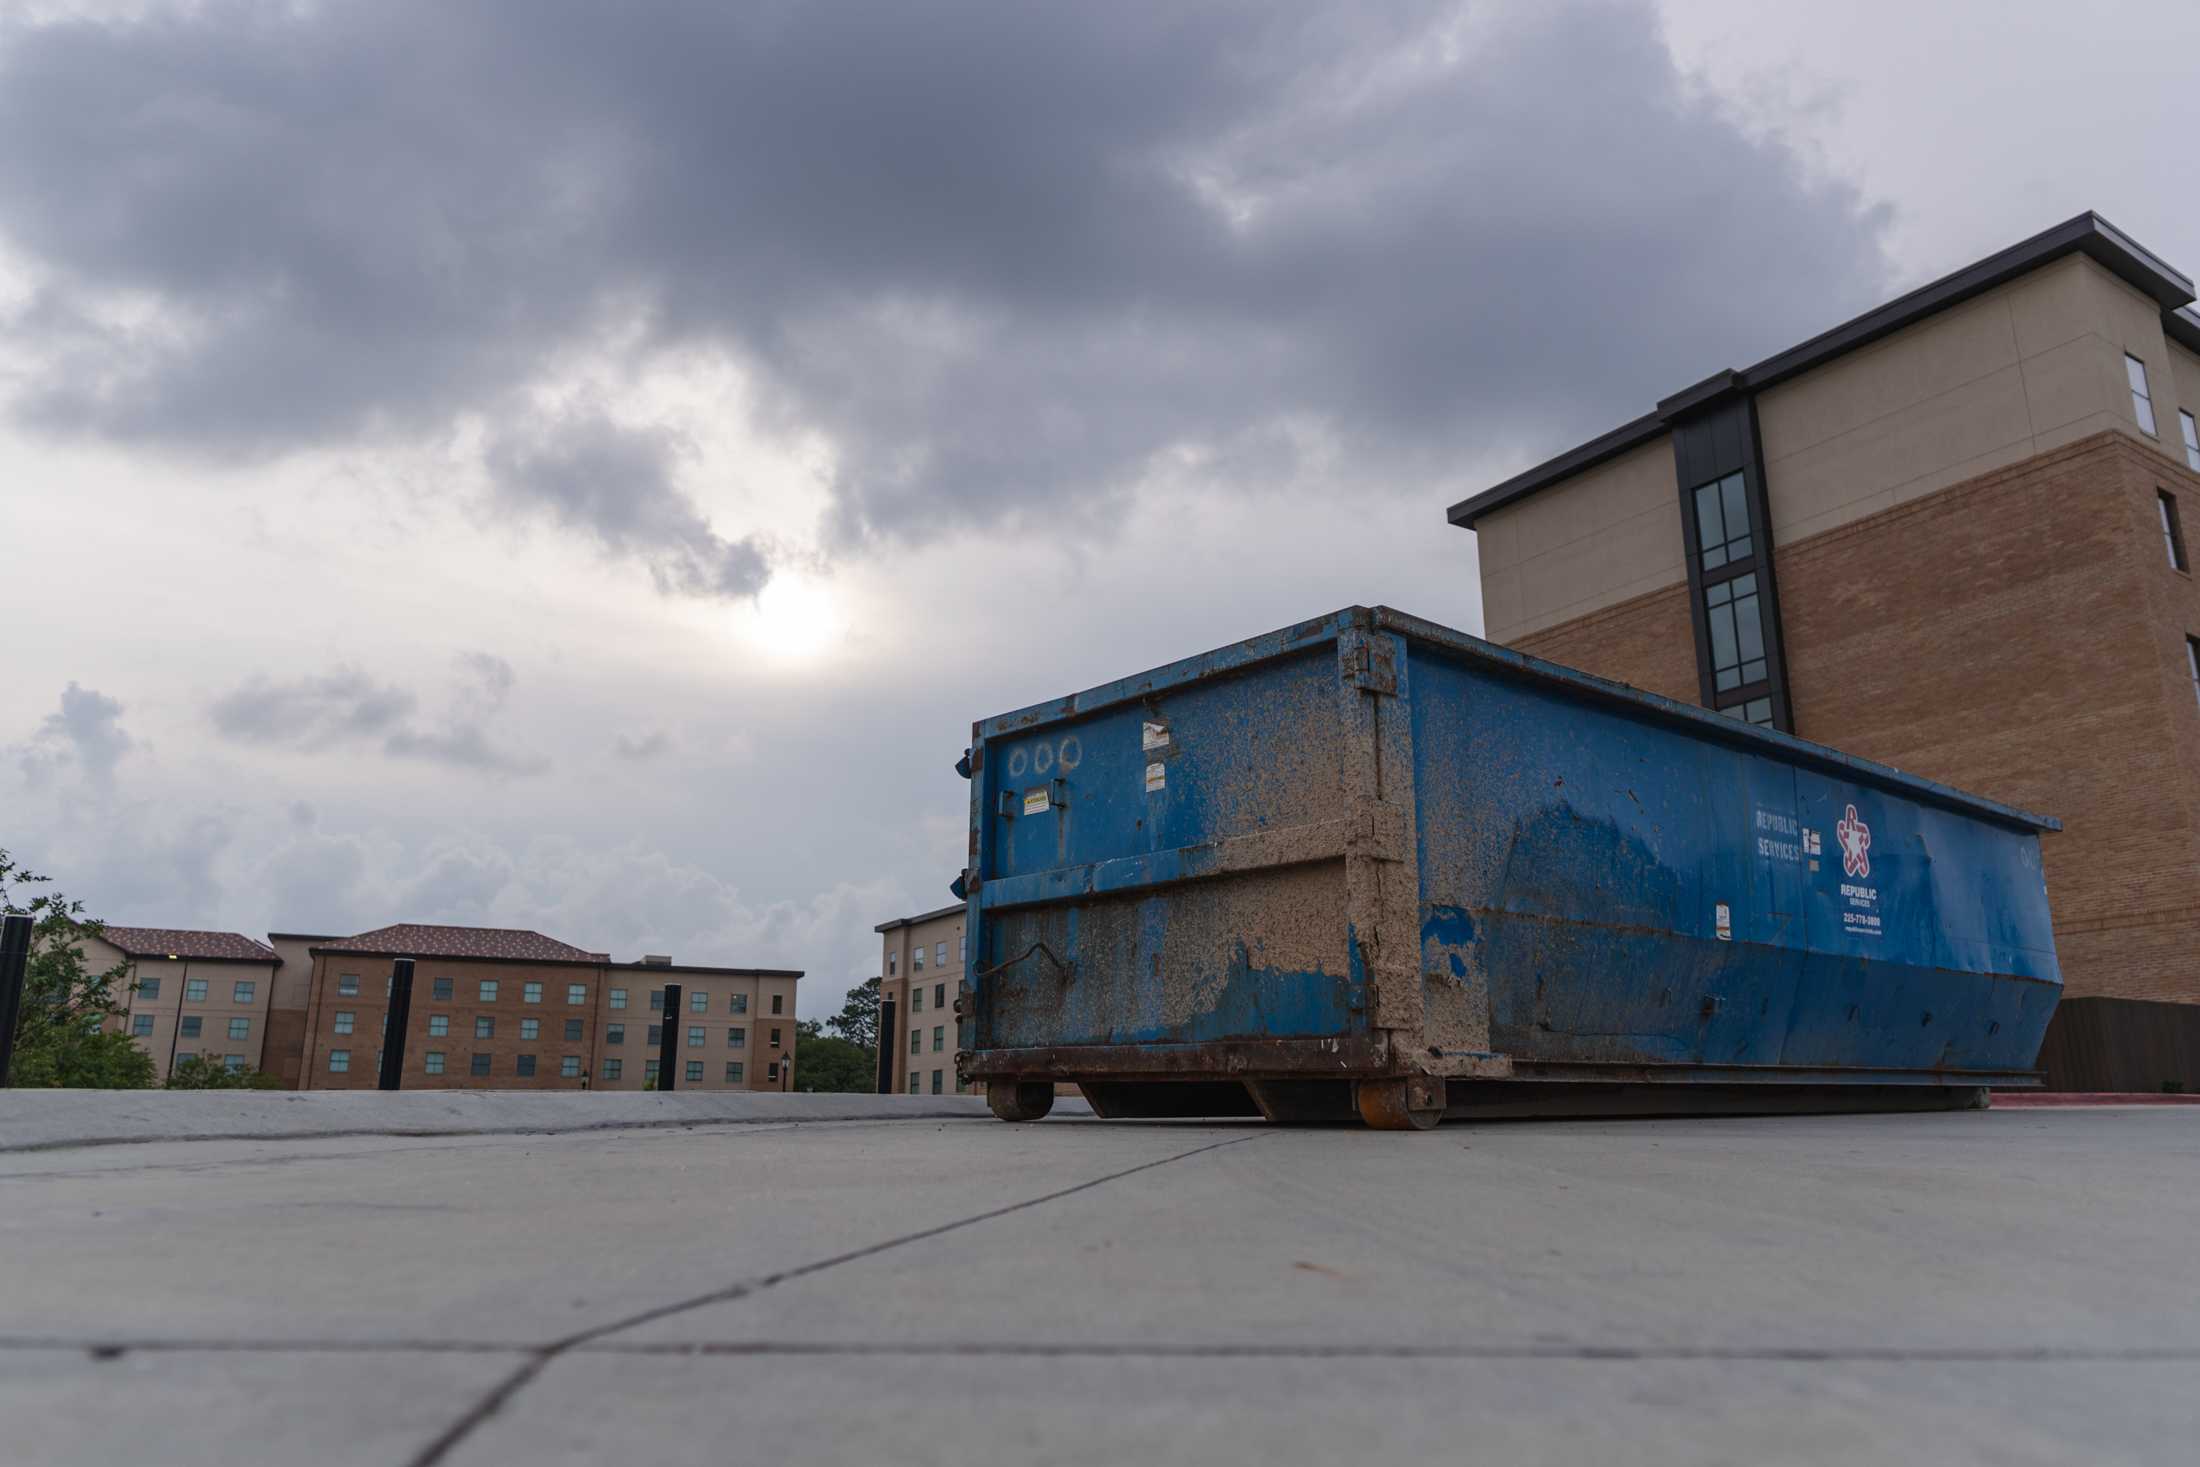
[[[97,915],[794,966],[977,717],[2081,209],[2200,7],[0,7],[0,845]]]

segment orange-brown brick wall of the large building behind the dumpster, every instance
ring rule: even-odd
[[[1775,550],[1795,732],[2061,818],[2072,999],[2200,1003],[2200,587],[2163,550],[2158,486],[2200,554],[2200,475],[2125,433]],[[1685,587],[1516,644],[1696,702]]]

